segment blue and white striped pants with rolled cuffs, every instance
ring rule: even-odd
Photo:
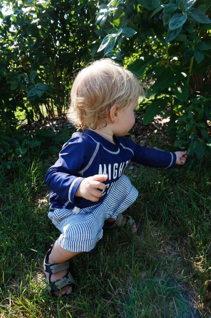
[[[91,251],[102,238],[104,221],[116,219],[137,198],[138,191],[128,177],[122,175],[103,202],[87,208],[56,209],[48,217],[62,233],[58,243],[70,252]]]

